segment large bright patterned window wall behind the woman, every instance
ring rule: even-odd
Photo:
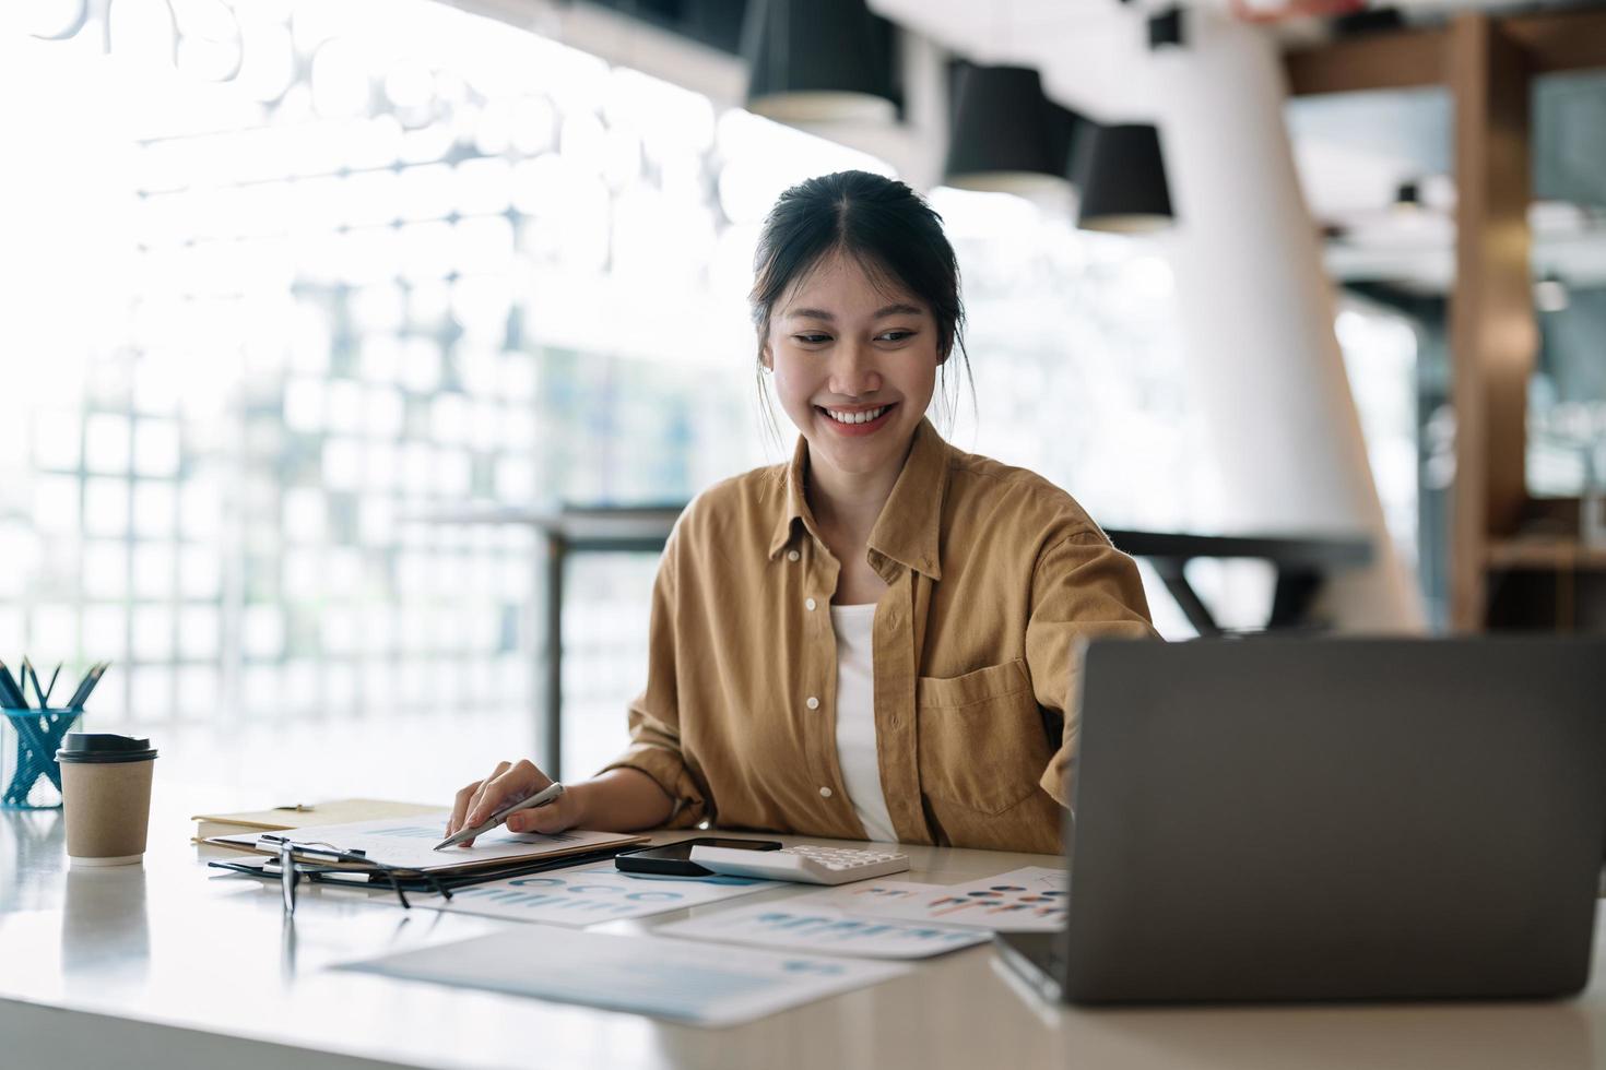
[[[0,284],[32,295],[0,356],[31,398],[0,428],[0,648],[114,659],[108,728],[532,709],[535,536],[453,517],[779,459],[758,223],[885,165],[427,0],[74,8],[0,24],[31,101],[0,117],[31,160]],[[956,440],[1110,523],[1193,518],[1164,265],[933,202],[975,324]],[[623,740],[654,565],[575,563],[567,770]]]

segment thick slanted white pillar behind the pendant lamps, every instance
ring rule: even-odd
[[[1394,552],[1333,330],[1320,258],[1283,124],[1270,35],[1187,10],[1187,42],[1148,56],[1177,228],[1184,359],[1233,529],[1365,534],[1370,566],[1328,584],[1346,632],[1425,629]]]

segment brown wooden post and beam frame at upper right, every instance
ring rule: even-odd
[[[1450,502],[1450,627],[1487,626],[1489,569],[1593,557],[1534,557],[1513,541],[1531,510],[1527,382],[1539,355],[1529,249],[1532,82],[1606,67],[1606,8],[1373,34],[1285,56],[1291,95],[1444,85],[1455,106],[1455,289],[1450,295],[1457,414]],[[1556,544],[1563,545],[1563,544]],[[1521,561],[1521,565],[1518,565]]]

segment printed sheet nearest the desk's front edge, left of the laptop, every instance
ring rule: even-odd
[[[483,988],[724,1027],[875,985],[896,963],[830,959],[654,935],[517,926],[336,969]]]

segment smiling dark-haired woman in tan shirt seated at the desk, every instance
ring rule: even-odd
[[[507,828],[724,828],[1055,852],[1092,635],[1148,637],[1132,560],[1041,476],[927,422],[964,359],[940,217],[864,172],[784,193],[752,305],[792,462],[699,494],[654,586],[631,746]],[[1044,412],[1052,422],[1055,414]],[[448,834],[549,783],[501,762]]]

